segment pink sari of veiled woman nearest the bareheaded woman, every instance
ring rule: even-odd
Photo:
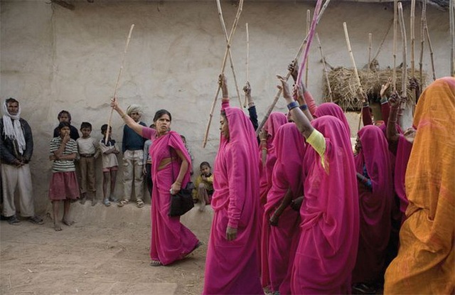
[[[226,107],[229,136],[215,157],[212,208],[215,211],[203,294],[263,294],[259,280],[259,162],[257,140],[241,109]],[[226,240],[227,227],[237,238]]]

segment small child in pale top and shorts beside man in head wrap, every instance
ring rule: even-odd
[[[107,124],[102,125],[101,134],[103,138],[100,140],[100,150],[102,154],[102,203],[110,206],[111,202],[117,202],[114,197],[115,182],[117,181],[117,171],[119,170],[119,161],[117,155],[120,153],[119,147],[112,139],[112,127],[109,127],[109,136],[106,142]],[[110,192],[107,197],[107,183],[109,183],[110,176]]]

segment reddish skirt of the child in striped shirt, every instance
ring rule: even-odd
[[[54,172],[49,184],[50,200],[66,200],[79,198],[79,185],[75,171]]]

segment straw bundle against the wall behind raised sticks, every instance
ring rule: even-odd
[[[362,84],[363,90],[368,95],[368,100],[370,103],[379,102],[380,100],[380,90],[381,85],[387,82],[389,77],[392,77],[392,69],[387,68],[385,70],[358,70],[358,75],[360,77],[360,83]],[[397,68],[397,90],[400,93],[401,87],[401,68]],[[407,76],[411,77],[411,70],[407,70]],[[423,80],[425,81],[427,74],[424,73]],[[328,73],[328,80],[330,82],[332,90],[332,99],[333,102],[338,104],[344,110],[350,111],[360,111],[362,107],[362,102],[359,99],[359,87],[358,82],[354,75],[354,70],[351,68],[333,68]],[[417,79],[418,80],[418,79]],[[419,81],[419,85],[424,85]],[[392,86],[387,90],[386,95],[390,95],[392,91]],[[326,82],[324,83],[324,97],[328,102],[330,97],[328,97],[328,87]],[[407,83],[407,102],[412,104],[412,92],[409,88],[409,82]]]

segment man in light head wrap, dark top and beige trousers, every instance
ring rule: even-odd
[[[144,122],[139,122],[141,114],[141,106],[138,104],[131,104],[127,108],[127,115],[132,117],[134,122],[138,122],[146,127]],[[144,165],[144,142],[145,139],[142,136],[134,132],[134,130],[129,128],[126,124],[124,125],[122,140],[124,199],[117,203],[119,207],[123,207],[129,203],[132,195],[133,183],[134,193],[136,194],[136,205],[139,208],[144,207],[144,200],[142,200],[144,190],[144,174],[142,171],[142,166]]]

